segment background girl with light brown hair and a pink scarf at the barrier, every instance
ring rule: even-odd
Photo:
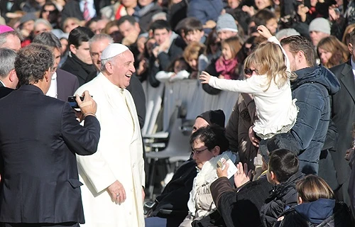
[[[239,79],[239,62],[236,54],[241,50],[239,38],[222,40],[222,55],[214,64],[220,79]]]

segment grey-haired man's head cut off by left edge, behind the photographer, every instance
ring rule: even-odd
[[[16,89],[18,78],[14,66],[15,58],[15,51],[0,48],[0,98]]]

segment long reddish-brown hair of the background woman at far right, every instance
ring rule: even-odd
[[[327,68],[340,65],[348,60],[349,50],[347,46],[340,42],[334,35],[330,35],[320,40],[320,43],[317,45],[318,56],[320,56],[320,48],[332,53],[332,56],[329,58],[328,62],[324,63],[324,66]]]

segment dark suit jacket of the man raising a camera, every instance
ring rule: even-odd
[[[92,155],[99,121],[23,85],[0,99],[0,222],[84,223],[78,155]]]

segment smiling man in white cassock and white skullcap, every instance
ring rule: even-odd
[[[143,147],[129,86],[134,57],[125,45],[102,52],[101,72],[82,85],[97,102],[101,136],[97,153],[77,155],[85,227],[144,226]]]

